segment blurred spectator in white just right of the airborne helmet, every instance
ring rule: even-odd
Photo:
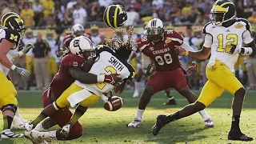
[[[127,21],[125,26],[137,26],[139,21],[139,14],[135,11],[134,5],[130,5],[129,10],[127,11]]]

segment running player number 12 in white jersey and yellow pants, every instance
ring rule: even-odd
[[[162,126],[180,118],[203,110],[215,98],[222,95],[224,90],[228,90],[234,95],[233,116],[231,129],[228,134],[229,140],[252,141],[253,138],[243,134],[239,127],[242,102],[245,98],[246,89],[232,72],[234,63],[238,60],[238,55],[254,55],[256,52],[254,39],[250,34],[249,23],[242,18],[235,17],[235,6],[230,0],[218,0],[214,2],[211,9],[212,22],[206,23],[203,28],[205,42],[202,50],[191,52],[178,47],[180,55],[191,58],[206,59],[210,55],[209,63],[206,67],[208,81],[202,88],[198,100],[193,104],[185,106],[182,110],[174,114],[159,114],[156,124],[152,128],[152,133],[157,135]],[[242,43],[246,43],[246,47]]]

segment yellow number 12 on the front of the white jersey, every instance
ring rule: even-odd
[[[238,35],[237,34],[227,34],[226,40],[231,40],[230,42],[226,42],[226,47],[223,47],[223,34],[218,34],[218,47],[217,51],[222,53],[229,53],[231,49],[231,45],[238,45]]]

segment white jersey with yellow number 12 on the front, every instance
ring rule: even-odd
[[[213,66],[215,60],[224,62],[231,70],[238,60],[238,54],[229,54],[230,45],[242,47],[242,43],[250,43],[254,39],[250,35],[249,23],[242,18],[235,19],[229,27],[215,26],[212,22],[206,23],[203,33],[206,34],[203,46],[211,48],[208,66]]]

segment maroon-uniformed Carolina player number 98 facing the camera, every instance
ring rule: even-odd
[[[128,127],[138,127],[140,125],[142,114],[150,102],[151,96],[158,91],[172,87],[190,103],[197,99],[197,96],[190,91],[187,85],[186,72],[182,69],[178,54],[174,50],[175,46],[184,46],[187,50],[194,50],[186,42],[183,42],[180,34],[174,30],[164,30],[162,21],[154,18],[147,24],[147,35],[138,38],[137,44],[138,49],[142,51],[142,67],[146,69],[153,61],[156,70],[146,83],[138,103],[137,114],[134,121],[127,125]],[[201,110],[199,114],[202,115],[206,127],[214,126],[214,122],[205,110]]]

